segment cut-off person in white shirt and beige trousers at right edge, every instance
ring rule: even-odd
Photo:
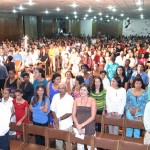
[[[150,102],[148,102],[145,106],[144,126],[145,126],[145,130],[147,131],[144,137],[144,144],[149,145],[150,144]]]

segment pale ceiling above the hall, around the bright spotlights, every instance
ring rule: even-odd
[[[150,19],[150,0],[141,0],[143,11],[138,11],[139,6],[136,2],[139,0],[32,0],[35,5],[29,6],[28,0],[0,0],[0,12],[11,12],[13,8],[19,7],[20,4],[26,9],[19,11],[22,14],[33,14],[33,15],[46,15],[43,12],[47,9],[50,13],[47,14],[52,17],[65,18],[68,16],[70,19],[74,18],[73,12],[77,12],[79,19],[83,19],[85,14],[92,18],[94,16],[100,18],[99,12],[102,12],[102,17],[106,15],[114,16],[115,18],[120,17],[121,13],[124,13],[124,18],[136,18],[139,19],[140,15],[143,14],[145,19]],[[75,2],[76,8],[70,5]],[[107,7],[115,6],[116,12],[110,11]],[[61,11],[57,12],[55,9],[59,7]],[[93,11],[89,13],[87,10],[91,8]]]

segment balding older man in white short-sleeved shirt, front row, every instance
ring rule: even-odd
[[[72,107],[74,99],[67,93],[67,85],[60,83],[59,93],[54,95],[51,103],[51,111],[54,117],[54,127],[59,130],[72,132]],[[63,150],[63,141],[56,140],[56,147]]]

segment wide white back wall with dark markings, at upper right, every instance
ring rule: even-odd
[[[130,25],[127,26],[127,20],[123,20],[123,35],[150,35],[150,20],[130,20]]]

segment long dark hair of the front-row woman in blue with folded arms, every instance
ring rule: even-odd
[[[43,85],[43,84],[39,84],[37,85],[36,87],[36,91],[34,93],[34,97],[33,97],[33,101],[32,101],[32,106],[35,106],[35,104],[38,103],[38,100],[39,100],[39,95],[37,94],[37,90],[39,88],[42,88],[44,90],[44,93],[43,93],[43,96],[42,96],[42,104],[41,105],[45,105],[45,99],[46,99],[46,87]]]

